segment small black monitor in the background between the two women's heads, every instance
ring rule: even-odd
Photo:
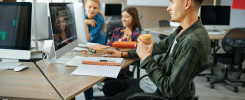
[[[102,12],[105,16],[121,16],[123,3],[103,3]]]

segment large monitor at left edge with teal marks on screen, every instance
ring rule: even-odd
[[[31,14],[28,2],[0,2],[0,58],[18,62],[31,56]]]

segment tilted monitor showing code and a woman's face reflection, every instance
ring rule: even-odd
[[[70,3],[49,3],[53,46],[49,59],[58,59],[78,45],[74,8]],[[52,57],[53,49],[55,51]]]

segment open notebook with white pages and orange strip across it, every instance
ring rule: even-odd
[[[123,63],[123,58],[82,57],[81,64],[71,74],[117,78]]]

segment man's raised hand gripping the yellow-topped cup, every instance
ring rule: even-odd
[[[151,40],[151,44],[146,45],[144,42],[140,40],[140,38],[138,38],[137,40],[138,40],[138,46],[136,52],[140,57],[140,59],[145,60],[146,57],[152,54],[153,41]]]

